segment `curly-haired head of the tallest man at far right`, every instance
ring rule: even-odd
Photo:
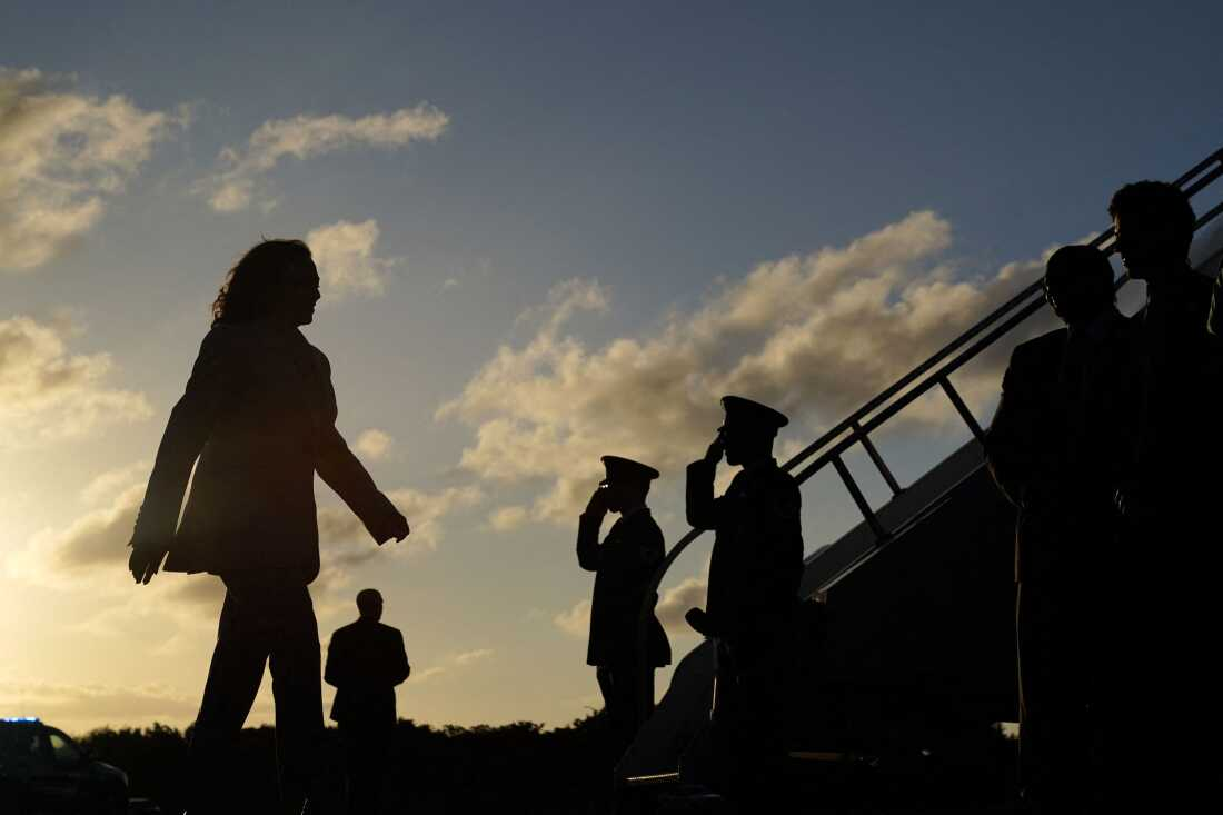
[[[1117,248],[1135,280],[1161,280],[1184,266],[1197,218],[1189,197],[1163,181],[1128,184],[1108,202]]]

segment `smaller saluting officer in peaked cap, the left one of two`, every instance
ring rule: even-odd
[[[596,667],[603,693],[614,762],[641,726],[638,711],[653,701],[641,699],[648,689],[638,671],[638,616],[649,580],[665,556],[665,543],[646,505],[649,482],[658,477],[658,470],[618,455],[604,455],[602,461],[607,477],[577,523],[577,563],[596,573],[586,663]],[[599,543],[608,512],[619,513],[620,519]],[[670,664],[671,650],[658,619],[651,617],[648,625],[646,660],[653,673],[653,668]]]

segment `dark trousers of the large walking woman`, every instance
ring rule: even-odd
[[[269,664],[283,809],[297,815],[318,776],[323,735],[318,623],[309,590],[300,579],[230,574],[223,580],[225,605],[191,740],[196,811],[232,811],[220,794],[241,795],[225,783],[225,765]]]

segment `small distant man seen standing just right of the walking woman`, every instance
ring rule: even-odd
[[[395,685],[412,673],[399,629],[383,625],[382,595],[357,595],[361,617],[331,635],[323,678],[335,687],[331,720],[340,726],[349,813],[377,813],[395,735]]]

